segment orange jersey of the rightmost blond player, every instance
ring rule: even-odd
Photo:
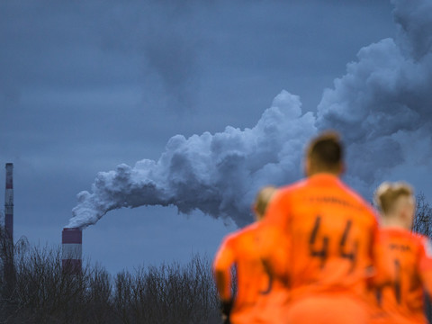
[[[406,229],[381,229],[376,253],[373,323],[428,323],[423,305],[424,287],[432,289],[428,238]]]

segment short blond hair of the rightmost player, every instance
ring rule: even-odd
[[[413,199],[413,190],[410,184],[384,182],[376,189],[374,201],[385,217],[397,211],[398,202],[401,202],[402,198]]]

